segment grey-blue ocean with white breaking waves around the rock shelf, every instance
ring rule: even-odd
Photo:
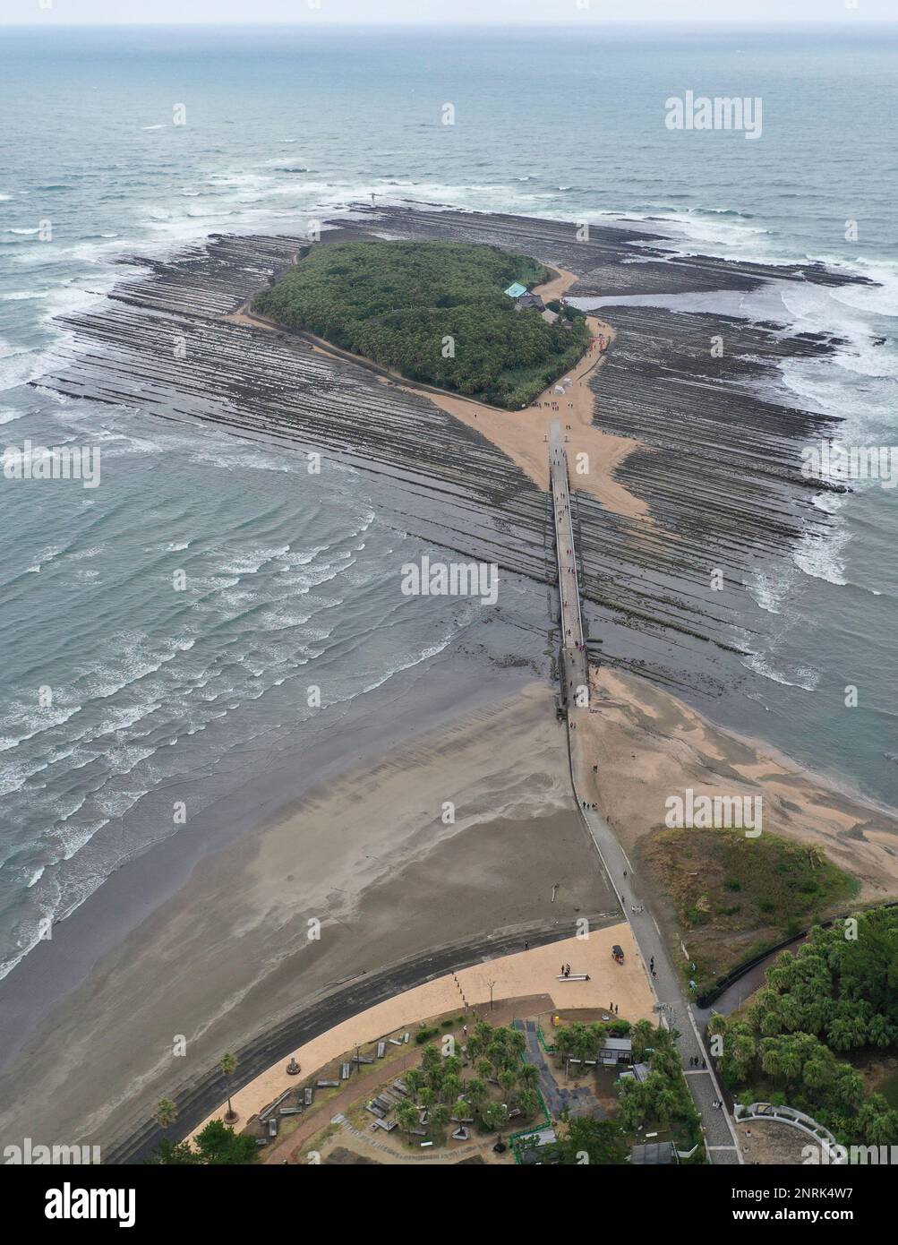
[[[185,776],[201,801],[203,776],[317,730],[310,686],[338,730],[354,697],[478,625],[458,600],[403,611],[396,566],[422,545],[377,481],[341,467],[322,483],[295,451],[29,386],[71,350],[56,316],[133,256],[303,232],[372,194],[641,222],[680,253],[877,281],[659,301],[837,335],[774,388],[842,417],[846,442],[892,446],[897,80],[894,30],[1,30],[2,447],[102,448],[96,489],[0,481],[2,970],[41,919],[179,833]],[[688,90],[761,98],[762,137],[672,132],[664,101]],[[749,585],[769,630],[728,725],[898,806],[898,489],[818,504],[828,539]],[[179,571],[192,591],[173,610]]]

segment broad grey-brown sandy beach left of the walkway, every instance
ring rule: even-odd
[[[502,930],[522,941],[546,923],[570,936],[577,915],[616,913],[573,808],[552,695],[530,686],[206,857],[6,1069],[0,1135],[106,1144],[342,982],[430,946]]]

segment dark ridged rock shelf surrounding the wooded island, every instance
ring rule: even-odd
[[[504,245],[577,273],[575,296],[848,280],[818,264],[672,258],[654,245],[662,238],[627,228],[592,227],[580,242],[565,222],[412,207],[353,213],[322,239]],[[41,385],[340,454],[392,478],[405,530],[550,584],[546,494],[486,437],[425,395],[301,337],[224,319],[303,242],[213,235],[169,261],[123,260],[148,271],[117,286],[100,311],[63,321],[76,339],[72,362]],[[836,422],[762,398],[759,383],[775,380],[784,359],[823,356],[840,342],[708,312],[631,305],[607,314],[617,336],[590,382],[593,423],[638,443],[614,477],[647,503],[650,522],[576,494],[592,651],[667,686],[708,691],[726,682],[728,655],[750,647],[760,621],[746,576],[808,532],[823,537],[828,522],[812,505],[800,452],[832,436]],[[711,339],[723,341],[720,357]],[[713,571],[721,588],[711,586]]]

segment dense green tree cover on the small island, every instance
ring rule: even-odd
[[[412,381],[519,410],[588,346],[582,316],[549,324],[505,289],[550,270],[499,247],[358,242],[313,247],[254,310],[306,329]]]

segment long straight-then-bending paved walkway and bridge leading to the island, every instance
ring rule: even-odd
[[[664,1016],[668,1026],[680,1035],[677,1047],[683,1058],[687,1084],[698,1111],[701,1113],[709,1157],[713,1163],[741,1163],[733,1120],[725,1107],[716,1108],[714,1106],[715,1102],[723,1099],[720,1086],[710,1068],[692,1006],[683,994],[679,975],[668,959],[660,930],[648,909],[650,896],[643,891],[641,880],[633,875],[633,867],[627,853],[608,823],[596,809],[588,807],[592,803],[590,779],[593,764],[587,730],[590,707],[581,703],[582,697],[577,696],[577,690],[588,687],[590,671],[580,601],[577,545],[571,519],[567,454],[562,428],[557,422],[550,430],[549,461],[558,563],[558,594],[561,598],[561,655],[562,679],[565,680],[562,691],[566,693],[565,700],[567,701],[567,736],[573,793],[606,873],[621,900],[624,916],[629,921],[646,970],[650,975],[658,1011]],[[601,773],[598,779],[601,782]],[[704,1068],[701,1067],[703,1059],[706,1064]],[[693,1061],[697,1061],[698,1066],[693,1066]]]

